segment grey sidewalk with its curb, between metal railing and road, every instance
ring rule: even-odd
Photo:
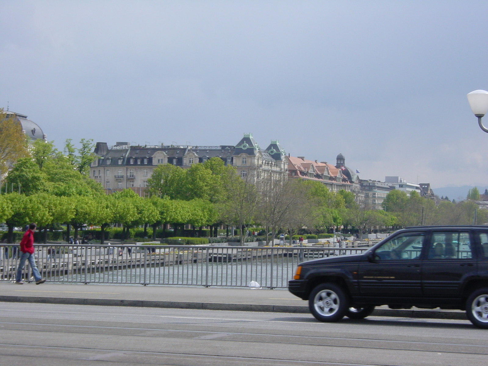
[[[307,302],[285,289],[179,287],[160,285],[35,285],[0,283],[0,302],[171,307],[182,309],[308,313]],[[375,309],[373,316],[467,320],[460,310]]]

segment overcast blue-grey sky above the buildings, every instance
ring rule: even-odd
[[[362,179],[486,185],[488,1],[0,1],[0,106],[48,140],[343,153]],[[488,118],[487,118],[488,125]]]

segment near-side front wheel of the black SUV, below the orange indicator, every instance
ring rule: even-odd
[[[335,284],[321,284],[313,289],[308,298],[312,315],[321,322],[341,320],[349,308],[344,290]]]

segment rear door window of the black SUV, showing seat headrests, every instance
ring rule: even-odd
[[[469,233],[463,231],[437,231],[430,238],[427,259],[471,259]]]

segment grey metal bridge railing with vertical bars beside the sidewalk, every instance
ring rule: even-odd
[[[48,282],[286,287],[301,262],[360,254],[367,248],[190,245],[35,245]],[[0,281],[14,281],[19,247],[0,247]],[[33,281],[26,264],[24,281]]]

